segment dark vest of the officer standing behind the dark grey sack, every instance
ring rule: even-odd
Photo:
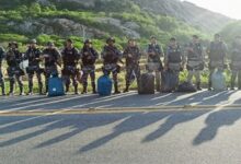
[[[180,46],[177,46],[176,48],[173,48],[173,47],[169,46],[168,60],[169,60],[170,63],[180,63],[180,62],[182,62],[182,51],[181,51]]]

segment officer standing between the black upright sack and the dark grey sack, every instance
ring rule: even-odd
[[[163,57],[162,47],[158,45],[157,38],[151,36],[148,45],[148,70],[156,73],[156,90],[160,91],[160,72],[163,69],[161,57]]]

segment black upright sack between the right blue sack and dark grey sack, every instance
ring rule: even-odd
[[[138,82],[138,94],[154,94],[154,75],[144,73]]]

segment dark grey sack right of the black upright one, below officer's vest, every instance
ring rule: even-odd
[[[163,71],[161,75],[162,75],[161,91],[162,92],[175,91],[176,86],[179,85],[179,73],[168,70],[168,71]]]

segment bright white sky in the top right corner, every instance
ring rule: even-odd
[[[184,0],[183,0],[184,1]],[[199,7],[241,20],[241,0],[185,0]]]

